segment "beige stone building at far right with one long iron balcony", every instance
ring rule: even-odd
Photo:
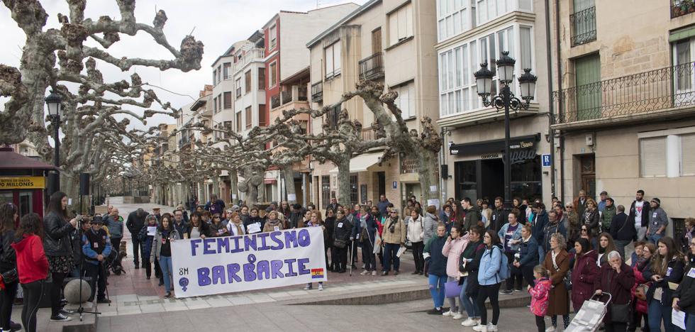
[[[678,233],[695,204],[695,8],[559,2],[552,128],[562,198],[606,190],[629,209],[643,189],[661,199],[673,221],[668,233]]]

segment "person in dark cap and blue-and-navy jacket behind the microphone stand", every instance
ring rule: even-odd
[[[106,273],[104,271],[104,258],[109,257],[111,253],[111,240],[106,235],[106,231],[101,226],[104,222],[101,216],[94,216],[91,219],[91,228],[82,235],[82,253],[84,254],[84,270],[91,277],[91,295],[89,301],[94,301],[94,293],[99,287],[99,292],[96,294],[96,303],[111,303],[111,300],[106,298]]]

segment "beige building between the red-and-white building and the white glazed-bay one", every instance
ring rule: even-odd
[[[435,1],[371,0],[308,42],[311,52],[311,102],[328,106],[344,92],[355,89],[360,79],[374,79],[399,92],[396,104],[406,123],[419,129],[418,119],[437,118],[438,91]],[[372,111],[359,97],[342,106],[350,118],[363,125],[365,139],[374,137]],[[329,112],[335,127],[339,109]],[[324,119],[313,119],[311,128],[320,132]],[[414,160],[401,155],[379,165],[381,149],[355,156],[350,162],[350,201],[372,200],[379,194],[396,206],[406,197],[422,201]],[[433,167],[436,167],[433,165]],[[311,162],[312,201],[321,208],[338,193],[338,170],[332,162]]]

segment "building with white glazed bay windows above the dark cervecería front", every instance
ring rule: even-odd
[[[516,60],[509,84],[518,97],[524,68],[538,76],[527,110],[511,111],[512,197],[550,201],[551,175],[542,167],[548,143],[549,104],[545,1],[437,0],[439,120],[443,196],[472,200],[504,197],[504,111],[484,106],[474,72],[483,62],[494,72],[491,95],[501,89],[495,61],[508,51]]]

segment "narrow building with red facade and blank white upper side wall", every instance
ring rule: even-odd
[[[265,111],[265,123],[271,123],[271,118],[282,114],[279,113],[281,106],[283,109],[306,106],[308,79],[304,72],[309,67],[306,43],[317,31],[326,30],[358,7],[348,3],[306,12],[280,11],[265,23],[262,27],[265,36],[265,105],[269,105]],[[299,100],[300,96],[304,100]],[[272,116],[271,109],[274,110]],[[307,166],[307,162],[296,165],[293,179],[284,179],[277,167],[270,167],[265,173],[265,186],[259,190],[259,199],[285,200],[286,186],[293,185],[297,191],[296,200],[304,203],[304,187],[308,187],[308,181],[311,181]]]

